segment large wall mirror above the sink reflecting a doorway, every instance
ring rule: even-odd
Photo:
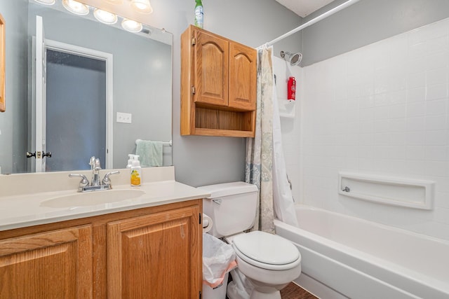
[[[0,120],[2,134],[13,136],[11,155],[5,154],[8,148],[0,155],[1,172],[90,169],[92,155],[103,169],[124,168],[138,139],[161,142],[162,165],[172,165],[172,34],[147,25],[127,32],[121,17],[114,25],[102,24],[91,6],[88,15],[75,15],[60,0],[52,6],[20,2],[26,6],[27,33],[21,38],[27,51],[15,53],[20,57],[9,53],[6,65],[20,62],[14,71],[25,70],[25,82],[13,84],[27,92],[24,99],[13,98],[7,89],[6,96],[9,103],[24,101],[16,103],[20,112],[13,117],[26,120],[20,125]],[[51,153],[41,165],[33,156],[40,140],[41,153]]]

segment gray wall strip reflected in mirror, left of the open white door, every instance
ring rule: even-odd
[[[6,22],[6,112],[0,113],[0,167],[2,173],[25,172],[27,144],[27,2],[0,1]],[[15,15],[15,18],[7,18]],[[18,134],[13,134],[13,128]],[[12,157],[12,158],[11,158]]]

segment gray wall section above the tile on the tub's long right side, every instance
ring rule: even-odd
[[[335,0],[304,22],[344,2]],[[361,0],[302,30],[302,65],[448,18],[448,11],[448,0]]]

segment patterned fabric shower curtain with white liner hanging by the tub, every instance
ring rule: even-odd
[[[273,47],[258,50],[255,137],[246,141],[245,168],[246,182],[259,188],[253,229],[274,233],[274,211],[276,218],[286,223],[297,225],[297,220],[283,160],[272,57]]]

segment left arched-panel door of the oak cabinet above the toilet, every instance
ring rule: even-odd
[[[206,32],[195,32],[194,101],[228,104],[229,42]]]

